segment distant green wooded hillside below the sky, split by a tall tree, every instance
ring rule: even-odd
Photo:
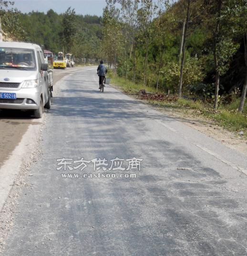
[[[87,58],[94,58],[97,55],[95,53],[98,51],[98,46],[96,50],[93,50],[93,47],[96,43],[100,44],[99,42],[102,40],[102,19],[94,16],[91,19],[90,17],[90,15],[75,15],[74,17],[76,33],[69,37],[72,47],[64,49],[64,51],[71,52],[76,58],[81,59],[83,54]],[[42,44],[45,49],[53,53],[63,51],[63,18],[64,14],[57,14],[53,10],[47,11],[46,14],[34,11],[27,14],[20,13],[20,23],[28,35],[28,38],[23,41]],[[86,52],[87,49],[90,50],[90,53]]]

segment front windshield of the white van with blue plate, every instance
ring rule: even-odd
[[[31,49],[0,48],[0,69],[35,70],[35,54]]]

